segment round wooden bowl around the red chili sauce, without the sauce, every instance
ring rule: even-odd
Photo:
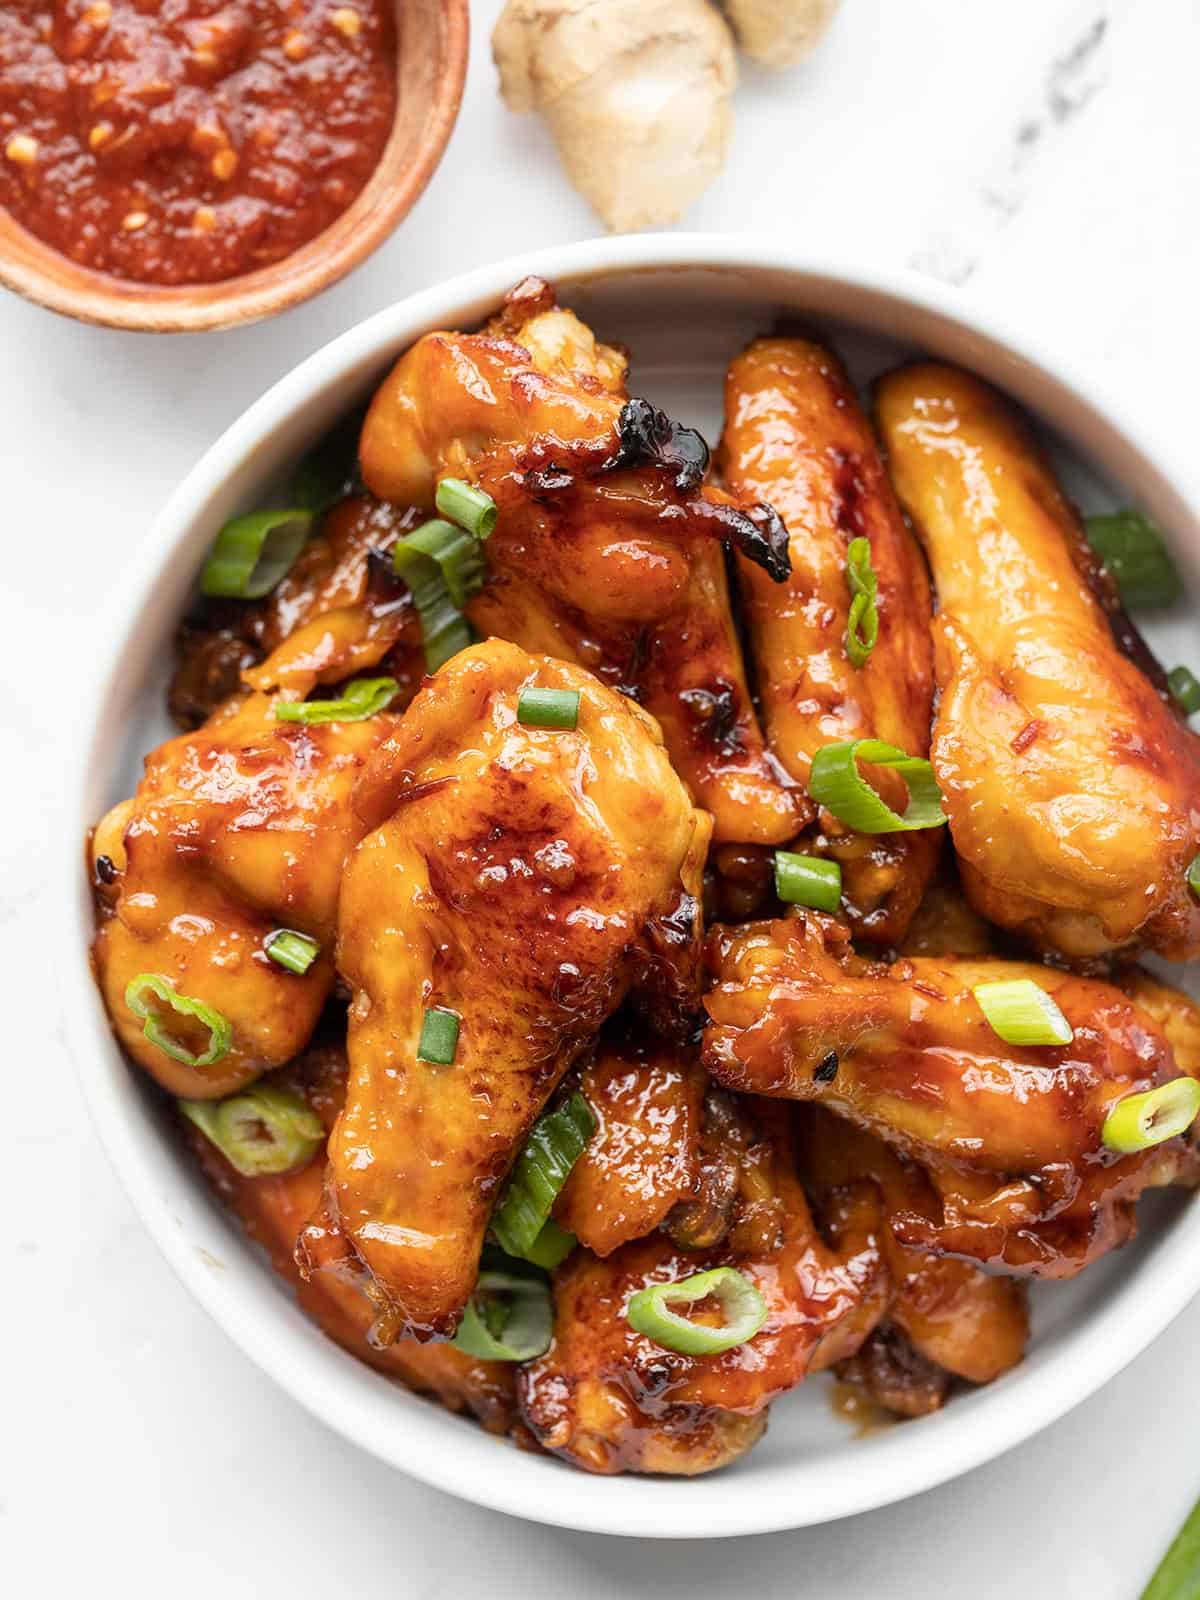
[[[0,283],[80,322],[141,333],[202,333],[274,317],[365,261],[434,176],[467,74],[467,0],[395,0],[397,109],[366,187],[336,222],[282,261],[221,283],[160,288],[80,267],[0,208]]]

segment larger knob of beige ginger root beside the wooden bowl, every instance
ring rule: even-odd
[[[738,64],[709,0],[509,0],[491,53],[613,230],[677,222],[725,162]]]

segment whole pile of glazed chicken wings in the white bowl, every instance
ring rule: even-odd
[[[824,346],[725,398],[709,480],[541,280],[419,339],[266,595],[221,530],[88,842],[114,1032],[309,1317],[600,1474],[826,1371],[954,1403],[1200,1179],[1200,1006],[1128,965],[1200,952],[1197,739],[1022,424],[891,374],[896,498]]]

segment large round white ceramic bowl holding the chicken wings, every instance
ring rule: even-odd
[[[168,731],[170,638],[213,534],[413,339],[470,326],[530,272],[557,282],[605,338],[632,347],[634,392],[699,421],[709,437],[725,362],[779,312],[829,323],[859,376],[912,349],[974,368],[1050,424],[1085,506],[1131,498],[1170,530],[1197,600],[1200,525],[1144,430],[1101,406],[1078,374],[1032,350],[1019,328],[930,280],[813,259],[778,238],[677,234],[549,250],[414,294],[326,346],[251,406],[189,474],[123,574],[120,610],[106,616],[78,763],[67,774],[61,893],[72,930],[64,1002],[74,1051],[101,1138],[174,1270],[264,1371],[347,1438],[438,1488],[568,1528],[696,1538],[826,1522],[965,1472],[1106,1382],[1200,1288],[1200,1206],[1162,1197],[1142,1208],[1136,1245],[1072,1285],[1038,1286],[1026,1362],[987,1389],[957,1395],[938,1416],[856,1438],[832,1416],[827,1379],[814,1379],[776,1405],[765,1442],[726,1472],[691,1482],[594,1478],[394,1387],[298,1312],[166,1138],[144,1083],[114,1045],[88,970],[80,842],[131,790],[138,757]],[[1168,624],[1166,638],[1158,630],[1168,664],[1186,658],[1190,634],[1187,618]]]

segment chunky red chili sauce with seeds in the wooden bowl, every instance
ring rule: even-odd
[[[291,254],[362,190],[394,114],[392,0],[0,3],[0,205],[118,278]]]

